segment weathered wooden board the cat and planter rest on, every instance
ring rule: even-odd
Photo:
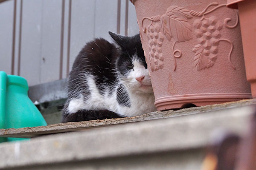
[[[84,122],[68,122],[68,123],[60,123],[53,124],[48,126],[40,126],[40,127],[23,127],[19,129],[0,129],[0,137],[22,137],[22,138],[31,138],[40,135],[47,135],[53,133],[63,133],[63,132],[71,132],[71,131],[79,131],[79,130],[87,130],[89,128],[102,127],[106,125],[117,125],[122,123],[131,123],[131,122],[139,122],[146,120],[154,120],[154,119],[164,119],[171,118],[176,116],[185,116],[196,113],[206,113],[209,111],[218,111],[228,108],[236,108],[247,105],[255,105],[256,99],[247,99],[241,100],[238,102],[227,102],[224,104],[218,105],[209,105],[195,108],[186,108],[177,111],[163,111],[163,112],[152,112],[147,113],[141,116],[136,117],[126,117],[122,119],[105,119],[105,120],[92,120],[92,121],[84,121]]]

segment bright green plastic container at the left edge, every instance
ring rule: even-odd
[[[28,83],[23,77],[0,71],[0,128],[47,125],[38,108],[28,97]],[[0,142],[22,140],[0,138]]]

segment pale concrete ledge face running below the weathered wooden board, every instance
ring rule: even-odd
[[[74,164],[78,161],[84,161],[85,167],[89,160],[97,162],[118,159],[120,156],[157,153],[172,156],[175,151],[193,149],[199,154],[198,148],[210,144],[211,134],[216,130],[243,135],[254,109],[253,106],[230,108],[38,137],[30,142],[3,143],[0,144],[0,168],[46,165],[53,168],[63,162]],[[97,166],[94,167],[96,169]],[[183,167],[183,170],[186,169],[192,170],[189,166]]]

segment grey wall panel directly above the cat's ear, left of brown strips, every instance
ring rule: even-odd
[[[95,37],[111,40],[108,31],[116,33],[117,0],[96,0]]]

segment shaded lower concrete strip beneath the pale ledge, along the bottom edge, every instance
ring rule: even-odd
[[[132,156],[36,164],[5,170],[200,170],[204,150],[152,153]]]

